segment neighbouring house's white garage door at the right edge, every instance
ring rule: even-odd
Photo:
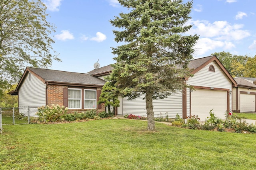
[[[240,112],[255,111],[255,95],[240,94]]]

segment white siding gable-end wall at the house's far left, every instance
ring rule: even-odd
[[[29,76],[30,75],[30,76]],[[30,79],[30,80],[29,80]],[[19,107],[41,107],[46,105],[46,84],[33,74],[27,74],[19,88]],[[30,109],[30,116],[36,116],[37,109]]]

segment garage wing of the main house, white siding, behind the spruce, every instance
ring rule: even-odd
[[[185,119],[190,115],[198,115],[201,120],[209,116],[209,111],[220,118],[225,118],[225,113],[232,110],[232,89],[237,83],[220,63],[215,55],[194,59],[188,67],[193,71],[193,77],[186,79],[186,84],[194,90],[186,88],[183,92],[172,94],[166,99],[154,100],[154,116],[175,118],[176,114]],[[94,69],[88,74],[103,78],[110,74],[111,66]],[[136,100],[119,98],[120,107],[117,114],[140,115],[146,117],[146,102],[144,96]]]

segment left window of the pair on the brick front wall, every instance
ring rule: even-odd
[[[68,89],[68,108],[81,109],[81,89]]]

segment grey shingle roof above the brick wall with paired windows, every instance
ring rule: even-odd
[[[40,76],[46,82],[62,82],[62,83],[72,83],[72,84],[92,84],[92,85],[104,85],[105,81],[90,76],[87,73],[78,72],[67,72],[59,70],[49,70],[44,68],[34,68],[28,67],[29,70]]]

